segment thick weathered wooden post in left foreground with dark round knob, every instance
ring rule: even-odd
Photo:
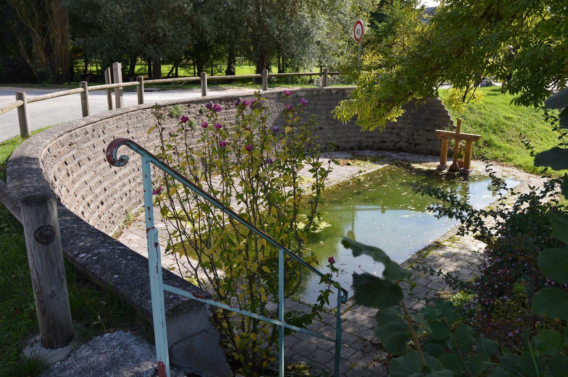
[[[41,345],[61,348],[73,339],[73,322],[65,279],[57,200],[32,194],[24,197],[22,220]]]

